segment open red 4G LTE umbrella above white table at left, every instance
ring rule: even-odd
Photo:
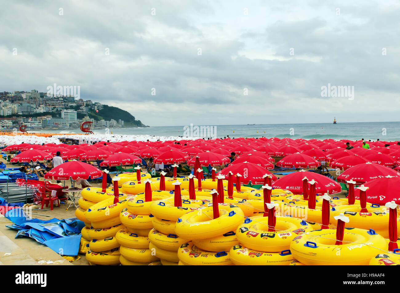
[[[81,180],[81,179],[91,179],[98,178],[102,176],[102,171],[96,167],[80,162],[80,161],[70,161],[58,165],[56,168],[48,171],[45,175],[45,179],[54,180]]]

